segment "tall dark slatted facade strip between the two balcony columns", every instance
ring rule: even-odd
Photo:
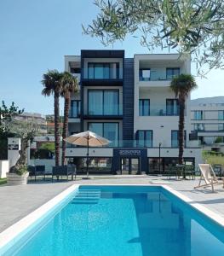
[[[125,58],[123,68],[123,140],[134,139],[134,59]]]

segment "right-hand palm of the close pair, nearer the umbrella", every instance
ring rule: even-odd
[[[64,72],[63,78],[61,79],[61,91],[60,96],[65,99],[64,104],[64,120],[63,120],[63,131],[62,131],[62,156],[61,164],[64,166],[66,160],[66,141],[67,137],[67,126],[68,126],[68,113],[71,94],[78,91],[78,79],[73,77],[71,73]]]

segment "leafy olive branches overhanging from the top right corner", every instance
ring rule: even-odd
[[[129,34],[149,49],[178,49],[202,67],[224,67],[223,0],[95,0],[99,14],[83,32],[103,44]],[[207,64],[207,65],[204,65]]]

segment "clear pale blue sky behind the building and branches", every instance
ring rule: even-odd
[[[64,71],[64,55],[79,55],[80,49],[125,49],[126,57],[148,53],[139,38],[104,47],[99,38],[83,35],[82,24],[90,24],[99,11],[93,2],[0,0],[0,101],[15,102],[26,112],[53,113],[53,96],[41,95],[41,80],[48,69]],[[192,99],[224,96],[223,78],[224,71],[218,69],[207,79],[197,78]]]

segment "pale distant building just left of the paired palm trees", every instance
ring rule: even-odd
[[[19,119],[20,121],[24,122],[32,122],[33,124],[37,125],[37,133],[39,135],[45,135],[47,134],[47,121],[45,115],[41,113],[20,113],[16,117],[16,119]]]

